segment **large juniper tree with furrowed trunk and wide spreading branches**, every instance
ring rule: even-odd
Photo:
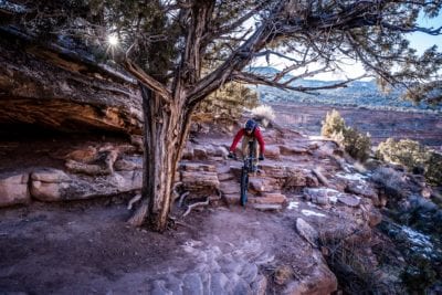
[[[109,33],[120,40],[112,57],[138,81],[145,120],[144,201],[130,219],[135,225],[148,220],[154,229],[166,229],[191,114],[225,83],[314,92],[317,88],[298,86],[297,81],[334,71],[346,57],[364,64],[383,83],[406,86],[411,97],[427,99],[422,92],[427,91],[432,102],[441,101],[441,52],[433,46],[419,56],[406,39],[411,32],[441,34],[441,28],[417,23],[419,13],[438,15],[440,0],[25,3],[25,11],[17,13],[23,17],[20,25],[29,30],[71,36],[91,51],[105,44]],[[248,65],[263,56],[283,59],[286,67],[272,76],[248,71]]]

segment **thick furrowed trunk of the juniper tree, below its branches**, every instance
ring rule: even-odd
[[[129,223],[139,226],[145,221],[152,230],[167,229],[171,207],[175,172],[189,133],[190,112],[180,104],[171,104],[157,93],[140,85],[145,118],[145,155],[143,202]]]

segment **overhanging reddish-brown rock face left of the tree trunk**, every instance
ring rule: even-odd
[[[66,49],[41,48],[4,31],[0,35],[1,126],[141,133],[134,81]]]

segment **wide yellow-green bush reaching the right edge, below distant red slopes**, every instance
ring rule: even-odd
[[[376,156],[385,161],[402,165],[409,171],[423,169],[429,183],[442,186],[442,155],[418,141],[388,138],[379,144]]]

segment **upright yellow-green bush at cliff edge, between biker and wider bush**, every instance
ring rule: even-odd
[[[320,134],[336,140],[355,159],[365,161],[371,150],[370,136],[360,134],[356,128],[347,127],[339,112],[327,113]]]

